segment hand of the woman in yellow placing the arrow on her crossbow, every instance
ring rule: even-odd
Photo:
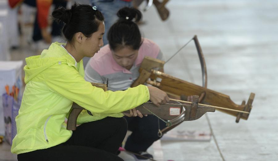
[[[160,104],[164,103],[166,104],[169,102],[169,97],[166,94],[166,92],[161,91],[157,87],[147,86],[150,91],[150,100],[153,102],[153,104],[159,106]]]

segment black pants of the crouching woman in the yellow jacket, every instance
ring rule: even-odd
[[[17,155],[19,161],[124,161],[116,154],[127,132],[124,118],[107,117],[84,123],[70,139],[47,149]]]

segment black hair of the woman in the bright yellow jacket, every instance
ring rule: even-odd
[[[54,20],[64,22],[63,35],[69,43],[75,33],[82,32],[86,37],[98,31],[99,24],[104,20],[99,10],[94,10],[90,5],[74,3],[70,9],[60,7],[52,12]]]

